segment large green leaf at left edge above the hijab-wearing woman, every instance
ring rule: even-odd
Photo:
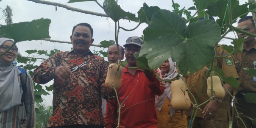
[[[32,20],[31,22],[19,22],[11,25],[2,25],[0,27],[0,37],[14,39],[15,42],[50,38],[50,22],[50,19],[41,18]]]

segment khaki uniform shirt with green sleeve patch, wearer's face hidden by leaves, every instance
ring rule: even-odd
[[[227,56],[228,54],[229,54],[228,52],[223,50],[221,45],[218,45],[214,56]],[[214,58],[214,67],[219,67],[220,69],[222,69],[225,74],[225,77],[233,76],[234,78],[238,78],[233,56],[232,57],[229,56],[226,58]],[[209,69],[209,65],[206,65],[198,72],[189,74],[187,76],[187,86],[189,90],[192,92],[192,94],[194,95],[194,97],[198,99],[198,102],[197,102],[198,105],[209,99],[207,95],[207,81],[206,81],[206,79],[210,76],[209,73],[206,76],[208,69]],[[190,96],[190,100],[193,103],[195,103],[191,96]],[[226,98],[222,103],[220,103],[219,109],[217,110],[216,116],[213,118],[213,120],[223,120],[223,121],[228,120],[228,117],[230,116],[229,100],[230,98]],[[203,118],[202,112],[206,105],[207,103],[205,103],[203,106],[200,106],[200,109],[202,109],[202,111],[198,110],[196,117]],[[188,111],[186,111],[186,115],[191,116],[192,111],[193,111],[193,106],[191,106],[191,108]]]

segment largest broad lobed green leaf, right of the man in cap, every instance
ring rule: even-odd
[[[169,57],[177,62],[181,75],[196,72],[213,61],[212,45],[220,41],[220,27],[213,20],[186,26],[178,14],[159,10],[151,22],[143,31],[145,42],[139,57],[146,57],[152,70]]]

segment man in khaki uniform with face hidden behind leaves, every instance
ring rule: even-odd
[[[214,56],[228,56],[229,53],[223,50],[221,45],[216,46],[215,55]],[[224,76],[233,76],[234,78],[238,78],[234,58],[233,56],[228,56],[225,58],[214,58],[214,67],[219,67],[223,70]],[[209,69],[209,65],[206,65],[198,72],[189,74],[187,76],[187,86],[189,90],[194,95],[197,100],[198,105],[204,103],[209,99],[207,95],[207,81],[206,79],[210,76],[207,74]],[[225,83],[224,86],[228,89],[229,92],[233,91],[233,87],[228,83]],[[225,99],[222,102],[218,102],[217,100],[211,100],[208,103],[205,103],[203,106],[200,106],[202,111],[198,110],[196,113],[195,120],[192,124],[192,128],[228,128],[228,121],[231,119],[230,117],[230,97],[228,96],[227,90],[225,89]],[[193,103],[193,98],[190,95],[190,99]],[[220,99],[221,100],[221,99]],[[186,111],[186,115],[191,117],[193,112],[193,106]],[[189,121],[189,125],[191,122]]]

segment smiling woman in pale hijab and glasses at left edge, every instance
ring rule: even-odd
[[[0,38],[0,54],[8,50],[14,40]],[[0,128],[34,128],[35,107],[33,96],[33,82],[27,73],[24,105],[21,104],[22,84],[21,73],[15,64],[17,45],[3,56],[0,56]]]

